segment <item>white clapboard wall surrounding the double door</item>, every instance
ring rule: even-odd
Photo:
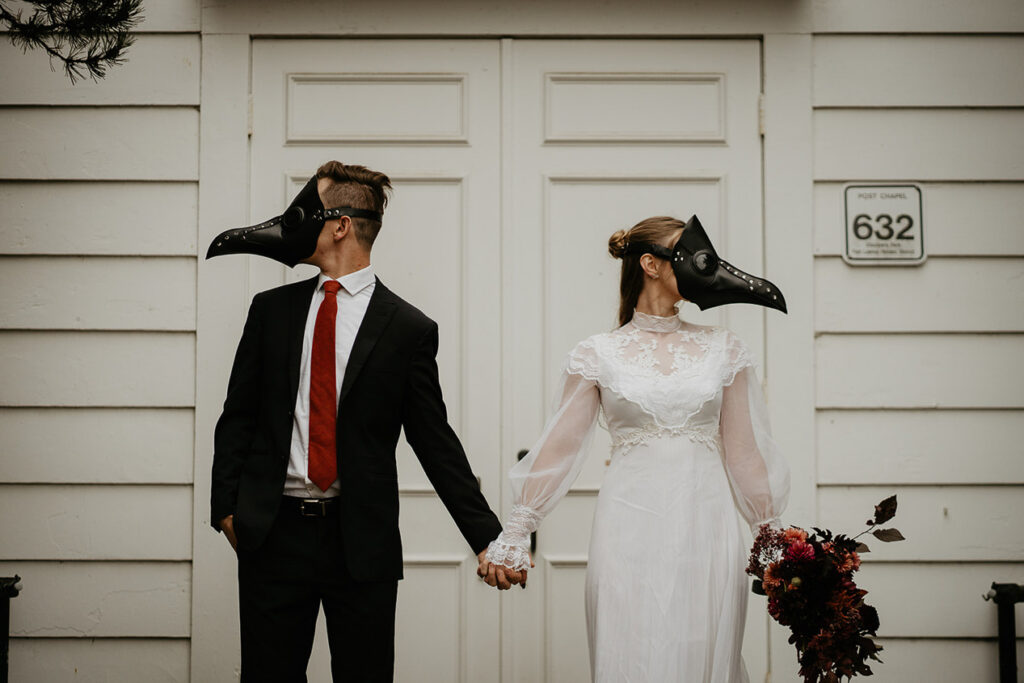
[[[203,518],[229,358],[195,330],[241,325],[212,321],[205,293],[230,288],[242,315],[246,283],[196,254],[249,206],[250,34],[762,36],[766,274],[800,304],[766,330],[793,521],[855,527],[897,493],[909,540],[876,543],[861,574],[880,680],[994,678],[980,595],[1024,582],[1024,5],[148,4],[99,84],[0,41],[17,65],[0,72],[0,574],[26,587],[12,680],[221,680],[218,643],[236,642],[212,628],[232,582]],[[842,262],[851,180],[920,183],[924,266]],[[211,639],[199,655],[194,631]],[[775,641],[773,680],[791,680]]]

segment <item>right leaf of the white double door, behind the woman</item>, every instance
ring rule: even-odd
[[[505,54],[515,200],[505,243],[514,291],[504,293],[510,467],[543,430],[565,353],[617,327],[612,232],[695,213],[730,261],[760,267],[760,56],[756,41],[679,40],[511,41]],[[688,304],[684,316],[732,328],[760,355],[762,309]],[[540,529],[530,589],[509,600],[509,680],[589,680],[584,577],[608,444],[599,430],[580,479]],[[750,621],[757,680],[764,620]]]

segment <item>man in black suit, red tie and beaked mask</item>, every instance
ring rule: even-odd
[[[447,423],[437,325],[370,265],[390,186],[329,162],[282,216],[208,253],[321,268],[253,298],[214,435],[211,521],[238,553],[247,683],[306,680],[321,604],[334,680],[392,680],[401,428],[481,562],[502,530]]]

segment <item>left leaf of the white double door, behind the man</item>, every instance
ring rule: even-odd
[[[381,280],[440,329],[450,420],[496,511],[500,461],[499,44],[256,40],[252,216],[276,215],[330,159],[387,173],[394,191],[374,246]],[[315,274],[250,261],[255,293]],[[402,440],[406,580],[397,681],[497,681],[499,596]],[[322,617],[323,618],[323,617]],[[428,675],[425,677],[424,672]],[[323,623],[310,680],[330,679]]]

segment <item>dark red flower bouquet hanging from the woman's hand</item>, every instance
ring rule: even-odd
[[[857,541],[864,533],[887,543],[903,540],[895,528],[877,528],[895,515],[892,496],[874,506],[868,527],[853,538],[813,526],[808,533],[761,525],[746,573],[757,577],[754,592],[768,596],[772,618],[790,627],[804,683],[870,676],[867,659],[882,660],[882,646],[872,640],[879,613],[864,602],[867,591],[857,588],[853,572],[860,568],[860,554],[868,552]]]

